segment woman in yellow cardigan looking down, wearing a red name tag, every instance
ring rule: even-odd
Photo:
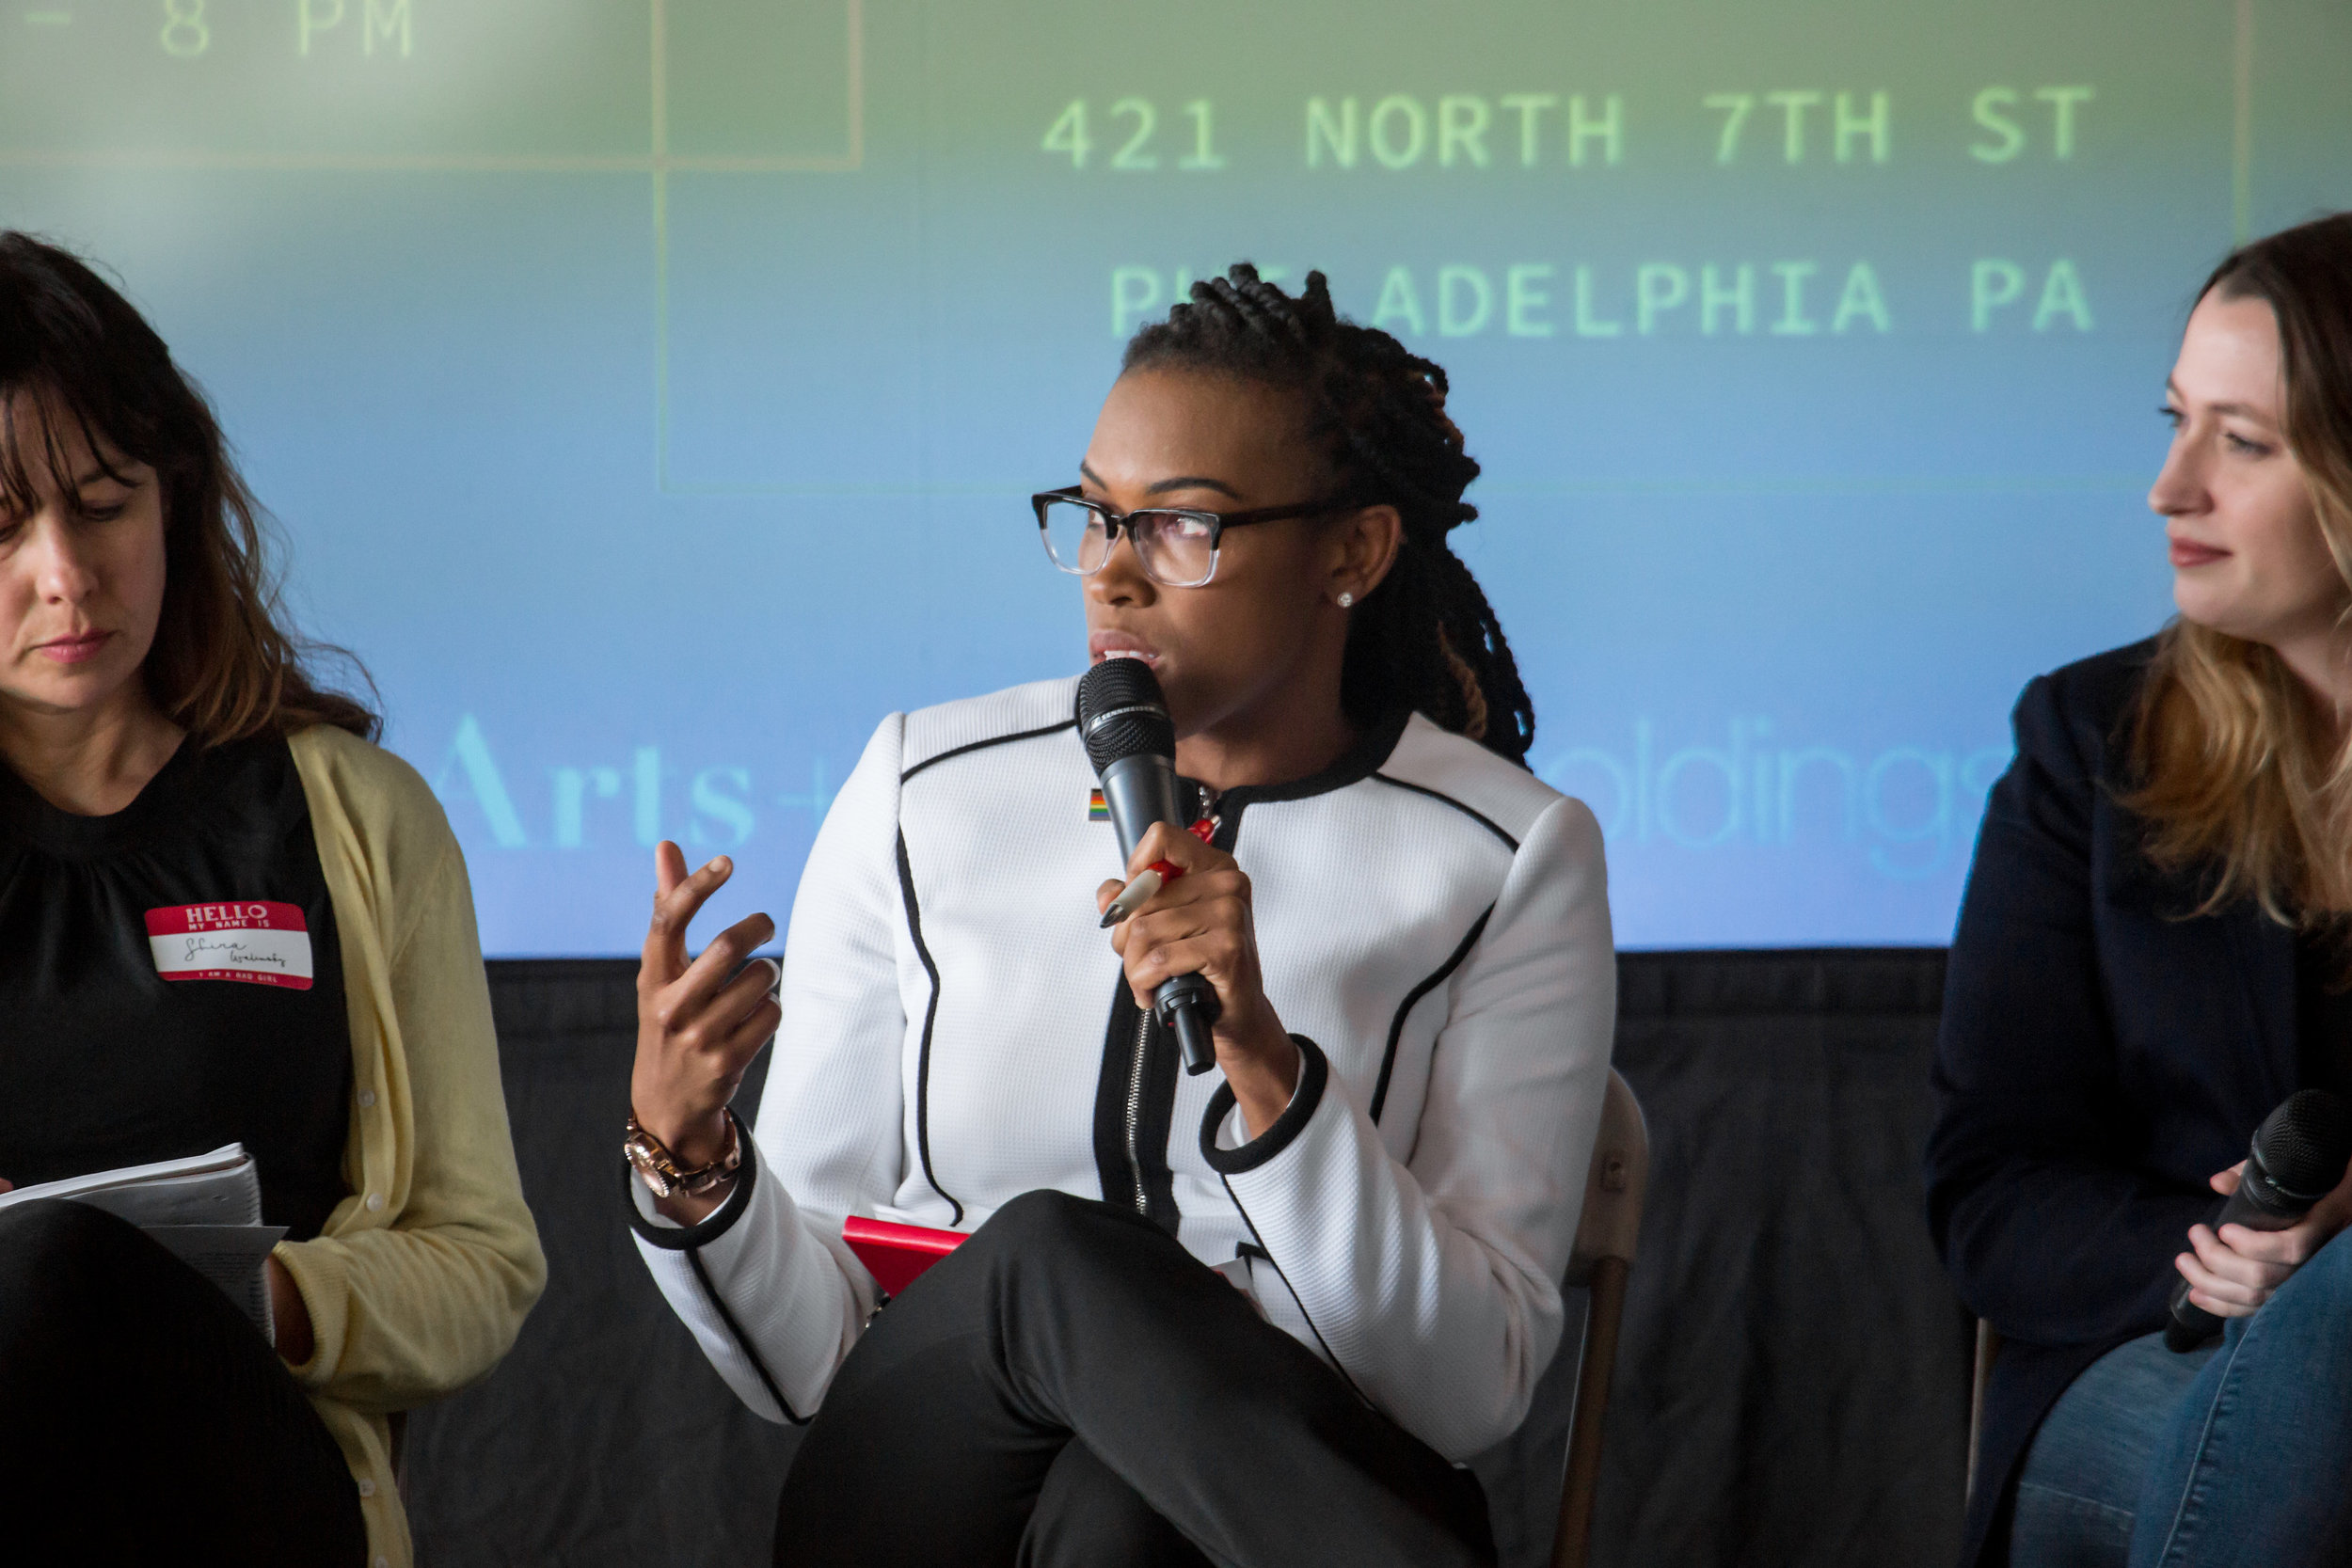
[[[546,1281],[456,839],[273,618],[155,331],[0,233],[0,1185],[245,1143],[275,1347],[143,1232],[0,1211],[24,1561],[409,1561],[386,1418]]]

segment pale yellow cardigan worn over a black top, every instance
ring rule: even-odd
[[[499,1086],[499,1037],[449,820],[402,759],[341,729],[292,741],[350,1006],[350,1140],[315,1241],[278,1260],[318,1349],[294,1368],[360,1486],[372,1568],[409,1566],[386,1415],[475,1382],[546,1286]]]

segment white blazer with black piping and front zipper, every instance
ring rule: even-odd
[[[974,1229],[1054,1187],[1131,1204],[1446,1458],[1508,1436],[1616,1023],[1592,813],[1411,715],[1225,792],[1265,994],[1303,1070],[1247,1140],[1143,1027],[1094,889],[1122,872],[1075,682],[891,715],[809,853],[746,1178],[637,1251],[734,1392],[807,1420],[877,1305],[844,1215]]]

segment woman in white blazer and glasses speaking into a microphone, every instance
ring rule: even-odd
[[[1075,682],[884,719],[793,910],[661,846],[630,1213],[755,1410],[811,1422],[779,1563],[1475,1563],[1562,1335],[1613,954],[1592,816],[1446,545],[1444,374],[1240,266],[1127,348],[1037,496],[1209,842],[1122,865]],[[1030,545],[1035,548],[1035,545]],[[1183,867],[1115,931],[1152,860]],[[1152,990],[1214,985],[1183,1077]],[[776,1034],[757,1135],[727,1112]],[[847,1215],[971,1232],[887,1309]]]

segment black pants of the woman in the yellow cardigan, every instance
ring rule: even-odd
[[[202,1274],[82,1204],[0,1211],[9,1561],[367,1561],[360,1493],[301,1385]]]

